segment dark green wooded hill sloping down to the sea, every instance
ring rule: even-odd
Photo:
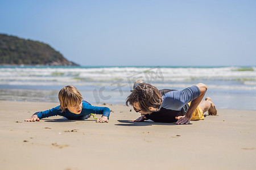
[[[5,34],[0,34],[0,65],[77,66],[43,42]]]

